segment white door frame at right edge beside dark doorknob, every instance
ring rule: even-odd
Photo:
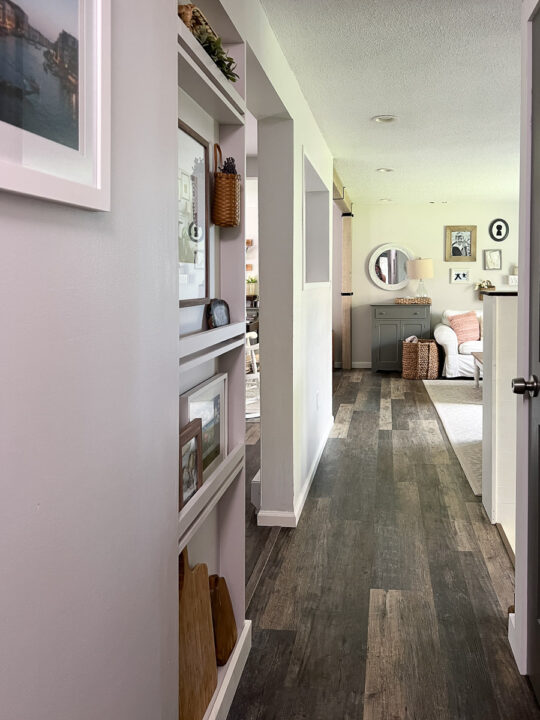
[[[532,21],[540,0],[523,0],[521,15],[521,177],[519,210],[518,367],[516,375],[530,376],[530,267],[532,190]],[[508,388],[508,392],[511,392]],[[529,403],[518,400],[516,467],[516,578],[515,613],[510,614],[508,639],[519,671],[527,674],[530,628],[529,561]]]

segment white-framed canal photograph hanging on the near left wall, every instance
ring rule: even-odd
[[[0,0],[0,189],[110,209],[111,0]]]

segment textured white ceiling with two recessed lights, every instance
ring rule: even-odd
[[[517,198],[520,0],[261,2],[356,203]]]

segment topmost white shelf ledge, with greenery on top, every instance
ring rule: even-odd
[[[246,103],[178,18],[178,85],[218,122],[243,125]]]

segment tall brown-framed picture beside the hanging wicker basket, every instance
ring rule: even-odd
[[[208,142],[178,121],[178,289],[180,307],[208,302]]]

